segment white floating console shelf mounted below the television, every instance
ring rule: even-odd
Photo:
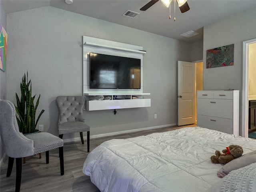
[[[110,96],[110,100],[90,100],[91,96]],[[151,99],[143,98],[143,95],[150,93],[85,93],[86,98],[85,109],[88,111],[94,110],[109,110],[109,109],[124,109],[124,108],[139,108],[150,107]],[[136,98],[134,98],[136,97]]]

